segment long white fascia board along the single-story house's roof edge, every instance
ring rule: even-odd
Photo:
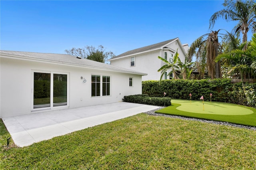
[[[0,57],[5,57],[5,58],[11,58],[11,59],[21,59],[25,61],[38,61],[42,63],[57,63],[61,65],[71,65],[71,66],[76,66],[76,67],[86,67],[86,68],[92,68],[92,69],[99,69],[99,70],[108,70],[108,71],[116,71],[120,73],[130,73],[130,74],[136,74],[136,75],[148,75],[146,73],[139,73],[139,72],[133,72],[131,71],[126,71],[126,70],[119,70],[119,69],[109,69],[109,68],[99,68],[96,66],[91,66],[91,65],[82,65],[82,64],[75,64],[75,63],[66,63],[63,61],[56,61],[56,60],[48,60],[48,59],[40,59],[40,58],[31,58],[31,57],[26,57],[26,56],[21,56],[21,55],[13,55],[13,54],[5,54],[5,53],[0,53]]]

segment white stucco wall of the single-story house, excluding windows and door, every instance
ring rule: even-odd
[[[1,118],[40,112],[32,111],[33,70],[56,71],[69,74],[70,81],[68,83],[70,86],[70,101],[69,106],[64,109],[121,102],[125,95],[142,93],[142,78],[140,75],[64,64],[6,58],[1,55]],[[91,97],[92,74],[110,76],[110,96]],[[80,78],[81,76],[85,77],[86,83],[82,82],[83,80]],[[133,77],[133,87],[129,87],[129,77]]]

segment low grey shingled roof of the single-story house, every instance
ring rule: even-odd
[[[34,53],[34,52],[21,52],[21,51],[4,51],[0,50],[0,57],[3,55],[9,58],[27,59],[32,61],[46,61],[51,63],[61,63],[66,65],[74,65],[80,67],[89,67],[95,69],[104,69],[109,71],[118,71],[122,73],[132,73],[137,75],[147,75],[138,71],[117,67],[114,65],[108,65],[98,61],[92,61],[90,59],[78,59],[73,55],[68,54],[54,54],[54,53]]]

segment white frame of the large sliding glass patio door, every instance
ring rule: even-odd
[[[42,107],[34,109],[34,73],[50,73],[50,107]],[[67,105],[53,106],[53,74],[66,74],[67,75]],[[60,109],[69,107],[70,105],[70,73],[57,72],[57,71],[44,71],[44,70],[32,70],[31,71],[31,111],[40,111],[47,109]]]

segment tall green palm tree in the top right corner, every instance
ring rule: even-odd
[[[253,0],[225,0],[224,7],[226,9],[215,12],[210,18],[209,29],[212,29],[216,20],[222,18],[229,21],[238,21],[233,28],[234,32],[242,32],[242,42],[247,42],[247,32],[251,29],[256,32],[256,2]],[[247,49],[247,44],[244,50]]]

